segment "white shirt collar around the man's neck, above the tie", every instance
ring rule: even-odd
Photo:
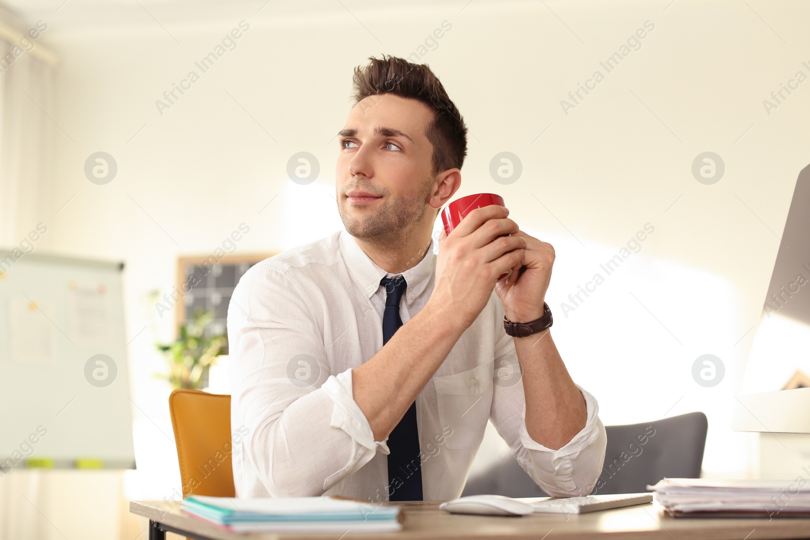
[[[394,276],[402,274],[407,283],[407,298],[418,296],[424,291],[433,278],[435,270],[436,255],[433,253],[433,238],[428,245],[428,253],[425,253],[422,260],[416,266],[400,272],[399,274],[391,274],[382,270],[377,263],[371,260],[371,257],[366,255],[360,245],[352,235],[346,231],[341,231],[339,235],[339,249],[343,255],[343,261],[346,262],[346,267],[352,279],[363,289],[365,296],[371,298],[377,289],[380,287],[380,280],[387,276]],[[413,295],[413,296],[411,296]]]

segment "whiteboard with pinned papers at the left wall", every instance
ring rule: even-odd
[[[122,270],[0,251],[0,476],[134,468]]]

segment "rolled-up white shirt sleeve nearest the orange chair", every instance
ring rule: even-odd
[[[294,282],[260,263],[228,306],[232,424],[249,433],[234,447],[239,496],[245,471],[274,497],[322,495],[388,453],[352,397],[352,370],[329,371],[317,313]]]

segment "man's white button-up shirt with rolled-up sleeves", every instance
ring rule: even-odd
[[[431,244],[433,245],[433,244]],[[433,291],[436,255],[402,272],[403,325]],[[251,267],[228,306],[237,496],[388,499],[388,447],[352,397],[352,368],[382,348],[386,273],[347,232]],[[587,422],[552,450],[531,439],[514,340],[493,291],[416,398],[424,500],[461,495],[487,421],[549,495],[587,495],[607,436],[595,398]]]

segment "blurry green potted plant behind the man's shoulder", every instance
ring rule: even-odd
[[[158,376],[168,380],[172,388],[200,389],[209,366],[215,364],[216,357],[228,346],[225,334],[205,332],[213,318],[213,312],[198,309],[191,320],[180,327],[180,335],[174,342],[156,344],[168,361],[168,374]]]

